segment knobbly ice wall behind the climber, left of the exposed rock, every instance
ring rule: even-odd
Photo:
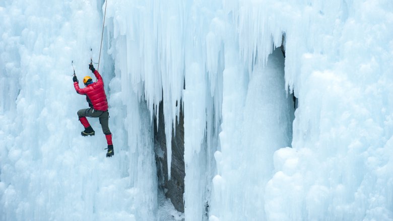
[[[157,215],[147,105],[127,106],[139,97],[121,96],[122,82],[114,78],[107,53],[99,71],[115,156],[105,158],[98,119],[89,119],[94,137],[80,135],[77,111],[88,105],[73,87],[71,61],[80,82],[92,76],[90,48],[98,62],[102,4],[0,1],[0,220],[154,220]],[[139,136],[129,138],[127,131],[135,130]],[[137,145],[128,145],[134,140]]]

